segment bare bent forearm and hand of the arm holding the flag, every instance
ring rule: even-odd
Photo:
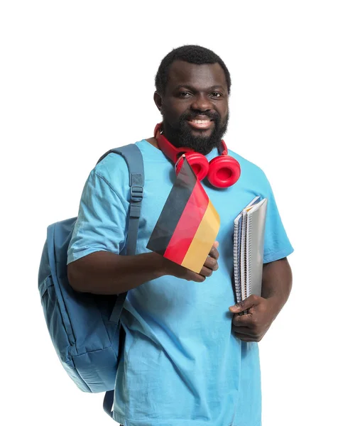
[[[201,283],[218,268],[217,246],[216,242],[200,273],[168,261],[158,253],[119,256],[109,251],[96,251],[69,263],[67,276],[74,290],[103,295],[125,293],[163,275]]]

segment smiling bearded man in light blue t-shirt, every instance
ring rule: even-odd
[[[170,52],[160,64],[154,95],[163,135],[208,160],[219,155],[230,88],[229,71],[211,50],[190,45]],[[256,342],[288,299],[292,281],[286,256],[293,248],[271,186],[262,170],[232,152],[241,165],[240,179],[226,190],[203,182],[221,227],[197,274],[146,249],[175,172],[156,138],[137,146],[145,184],[136,256],[118,254],[126,242],[129,175],[115,154],[89,175],[68,252],[75,290],[130,290],[121,316],[126,341],[116,377],[114,420],[125,426],[261,425]],[[234,218],[256,195],[268,199],[263,293],[234,305]],[[244,310],[249,313],[239,315]]]

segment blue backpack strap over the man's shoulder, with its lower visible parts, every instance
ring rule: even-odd
[[[126,241],[126,255],[133,256],[136,253],[136,241],[138,239],[138,222],[141,213],[141,202],[143,201],[143,155],[134,144],[114,148],[102,155],[98,163],[105,158],[109,153],[121,155],[129,169],[129,186],[130,186],[130,209],[129,209],[129,226],[128,238]],[[114,308],[111,312],[110,321],[118,323],[121,317],[121,311],[126,299],[126,293],[118,295]],[[112,418],[112,405],[114,404],[114,391],[105,393],[103,408]]]

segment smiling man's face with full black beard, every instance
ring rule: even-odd
[[[229,94],[218,63],[195,65],[176,60],[168,84],[155,101],[163,114],[163,133],[174,146],[202,154],[218,147],[227,130]]]

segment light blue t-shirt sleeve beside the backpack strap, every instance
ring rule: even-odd
[[[80,200],[79,214],[67,250],[67,263],[94,251],[117,253],[126,241],[124,200],[95,170],[87,178]]]

